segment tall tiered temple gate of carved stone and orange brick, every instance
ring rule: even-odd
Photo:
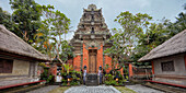
[[[73,68],[80,71],[86,66],[88,73],[96,73],[100,66],[112,67],[112,58],[104,54],[104,50],[112,46],[112,43],[106,42],[111,36],[102,9],[97,9],[95,4],[83,9],[78,30],[70,42],[74,47]],[[111,68],[106,71],[109,70]]]

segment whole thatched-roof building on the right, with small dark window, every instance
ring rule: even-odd
[[[186,30],[138,61],[151,61],[153,78],[150,82],[186,88]]]

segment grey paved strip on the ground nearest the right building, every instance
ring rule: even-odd
[[[143,86],[141,84],[136,84],[136,85],[126,85],[126,88],[131,89],[136,91],[137,93],[164,93],[162,91],[158,91],[151,88]]]

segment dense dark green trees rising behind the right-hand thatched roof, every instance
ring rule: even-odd
[[[186,8],[186,4],[184,4],[184,8]],[[135,47],[135,50],[132,53],[132,60],[136,62],[139,58],[147,55],[150,50],[170,39],[175,34],[184,31],[185,28],[186,13],[184,12],[181,12],[178,14],[175,23],[171,23],[166,19],[163,19],[159,23],[151,23],[150,26],[147,28],[147,32],[140,34],[138,45]],[[139,63],[136,65],[140,66]]]

